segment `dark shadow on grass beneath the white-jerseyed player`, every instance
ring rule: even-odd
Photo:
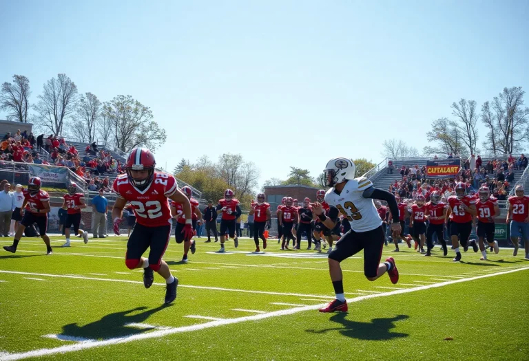
[[[371,322],[357,322],[348,320],[346,317],[347,314],[339,313],[329,319],[333,322],[338,322],[343,327],[321,330],[308,329],[307,332],[326,333],[329,331],[339,331],[343,336],[369,341],[393,340],[394,338],[409,336],[408,333],[391,332],[391,329],[395,328],[393,322],[406,320],[409,317],[408,315],[399,315],[392,318],[373,318]]]

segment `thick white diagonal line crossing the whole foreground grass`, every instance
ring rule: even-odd
[[[456,283],[463,283],[468,281],[475,281],[477,279],[481,278],[488,278],[488,277],[494,277],[494,276],[500,276],[502,274],[510,274],[513,272],[519,272],[529,270],[529,267],[521,267],[516,270],[508,270],[505,272],[497,272],[493,274],[484,274],[481,276],[475,276],[472,278],[464,278],[459,280],[452,280],[452,281],[446,281],[442,283],[435,283],[434,285],[423,285],[419,287],[414,288],[406,288],[406,289],[395,289],[395,291],[391,292],[384,292],[382,294],[369,294],[366,296],[360,296],[355,298],[350,298],[347,300],[347,303],[355,303],[360,302],[362,300],[369,300],[371,298],[378,298],[378,297],[386,297],[386,296],[393,296],[396,294],[407,294],[411,292],[417,292],[417,291],[423,291],[426,289],[432,289],[437,287],[444,287],[447,285],[454,285]],[[264,320],[266,318],[272,318],[272,317],[278,317],[278,316],[288,316],[292,314],[298,314],[299,312],[303,311],[314,311],[316,309],[319,309],[326,305],[326,303],[322,303],[320,305],[311,305],[311,306],[304,306],[304,307],[295,307],[291,309],[282,309],[280,311],[273,311],[273,312],[267,312],[265,314],[256,314],[252,316],[246,316],[246,317],[238,317],[238,318],[227,318],[225,320],[214,320],[211,322],[205,322],[201,323],[199,325],[191,325],[191,326],[184,326],[184,327],[169,327],[167,329],[160,329],[158,331],[152,331],[147,333],[140,333],[137,335],[130,335],[130,336],[123,336],[120,338],[110,338],[109,340],[103,340],[103,341],[96,341],[96,342],[81,342],[78,344],[69,344],[61,347],[55,347],[54,349],[37,349],[33,351],[27,351],[27,352],[21,352],[21,353],[11,353],[8,355],[1,355],[0,354],[0,361],[12,361],[12,360],[21,360],[23,358],[34,358],[34,357],[41,357],[45,355],[55,355],[57,353],[66,353],[66,352],[72,352],[72,351],[81,351],[83,349],[92,349],[94,347],[103,347],[103,346],[110,346],[113,344],[121,344],[126,342],[132,342],[136,340],[147,340],[149,338],[160,338],[167,335],[172,335],[174,333],[182,333],[182,332],[189,332],[189,331],[198,331],[201,329],[209,329],[212,327],[218,327],[218,326],[225,326],[225,325],[233,325],[235,323],[240,322],[247,322],[247,321],[258,321],[258,320]]]

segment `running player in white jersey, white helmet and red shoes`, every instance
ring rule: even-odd
[[[382,219],[373,204],[373,199],[388,203],[393,217],[391,222],[393,237],[399,237],[401,232],[399,210],[394,195],[373,187],[366,177],[355,178],[355,164],[352,160],[343,157],[333,158],[327,163],[324,173],[326,186],[331,187],[325,194],[325,201],[330,206],[329,215],[325,215],[319,203],[315,204],[313,212],[329,229],[333,229],[339,213],[342,213],[351,223],[351,230],[340,238],[336,247],[329,253],[329,273],[336,298],[320,309],[320,312],[347,311],[340,267],[340,262],[344,259],[364,250],[364,274],[369,281],[375,281],[386,272],[391,283],[395,284],[399,281],[399,272],[393,257],[388,257],[385,262],[380,263],[385,237],[382,231]]]

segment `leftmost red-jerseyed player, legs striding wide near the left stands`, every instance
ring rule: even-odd
[[[41,238],[46,244],[46,254],[52,254],[52,246],[50,245],[50,237],[46,234],[48,228],[48,213],[50,212],[50,196],[44,190],[41,190],[42,181],[39,177],[31,177],[28,182],[28,189],[23,190],[24,202],[20,208],[20,215],[23,215],[22,221],[19,223],[19,228],[14,234],[12,245],[4,245],[3,249],[14,253],[17,252],[20,237],[24,234],[26,227],[37,223]],[[24,213],[25,208],[25,213]]]

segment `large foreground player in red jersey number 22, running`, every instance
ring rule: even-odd
[[[165,278],[165,304],[176,298],[178,278],[174,277],[162,257],[171,239],[171,210],[167,199],[183,205],[185,226],[184,239],[193,237],[191,204],[187,196],[178,189],[176,179],[170,174],[157,172],[154,155],[145,148],[135,148],[127,157],[125,170],[114,181],[112,189],[116,202],[112,208],[114,233],[119,235],[119,223],[123,217],[123,207],[129,203],[134,207],[136,226],[130,234],[125,254],[125,265],[130,270],[143,268],[143,285],[151,287],[154,272]],[[143,253],[150,248],[148,258]]]

